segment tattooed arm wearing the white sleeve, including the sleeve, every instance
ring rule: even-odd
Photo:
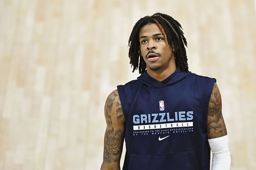
[[[230,169],[227,130],[222,116],[221,94],[217,84],[212,89],[207,120],[207,137],[212,151],[212,170]]]

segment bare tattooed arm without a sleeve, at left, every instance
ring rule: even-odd
[[[105,103],[106,131],[101,170],[120,169],[125,120],[117,90],[110,93]]]

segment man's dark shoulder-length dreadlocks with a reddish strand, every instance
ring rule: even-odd
[[[182,31],[182,27],[180,23],[175,20],[173,17],[162,14],[162,13],[155,13],[152,16],[145,16],[140,18],[130,35],[129,38],[129,58],[130,64],[133,67],[133,72],[138,69],[139,73],[145,71],[146,63],[143,60],[143,57],[140,56],[140,41],[139,41],[139,33],[140,29],[149,24],[149,23],[156,23],[156,25],[161,30],[162,34],[165,37],[165,40],[168,42],[169,45],[172,45],[175,50],[175,63],[177,67],[181,70],[188,70],[187,65],[187,55],[185,45],[187,46],[186,38],[184,37],[184,33]]]

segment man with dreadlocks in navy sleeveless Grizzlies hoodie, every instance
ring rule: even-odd
[[[101,169],[229,169],[230,153],[216,80],[188,71],[186,39],[174,18],[141,18],[129,39],[137,80],[106,99]]]

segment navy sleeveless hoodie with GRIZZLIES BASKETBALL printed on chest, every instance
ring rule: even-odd
[[[117,86],[125,116],[123,170],[208,170],[207,111],[216,79],[177,69]]]

